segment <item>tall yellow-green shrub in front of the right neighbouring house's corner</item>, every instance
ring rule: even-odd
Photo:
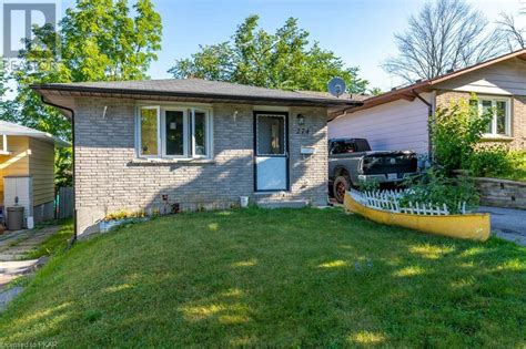
[[[473,106],[472,106],[473,105]],[[461,100],[449,107],[438,107],[429,122],[434,161],[447,174],[453,170],[467,168],[477,142],[481,140],[490,113],[478,113],[477,99]]]

